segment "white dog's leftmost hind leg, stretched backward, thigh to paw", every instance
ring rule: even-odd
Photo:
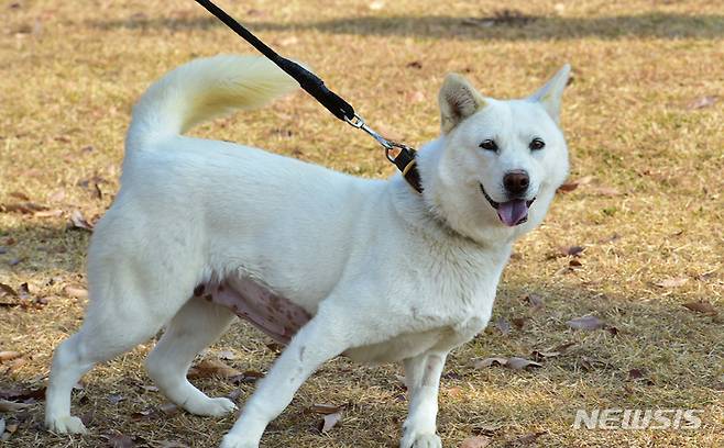
[[[86,432],[80,419],[70,415],[70,392],[80,377],[97,362],[150,339],[183,306],[193,289],[189,285],[189,291],[180,294],[180,285],[152,284],[122,265],[91,279],[96,281],[89,281],[90,302],[83,326],[53,356],[45,425],[56,433]]]

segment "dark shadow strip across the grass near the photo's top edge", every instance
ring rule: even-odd
[[[501,41],[548,41],[581,37],[622,38],[720,38],[724,36],[724,15],[685,15],[651,12],[636,15],[603,18],[557,18],[533,15],[495,15],[490,18],[456,18],[449,15],[359,16],[318,22],[273,23],[248,21],[235,14],[254,32],[321,31],[330,34],[376,36],[419,36],[432,38],[469,38]],[[101,30],[169,29],[207,30],[223,26],[215,18],[147,18],[91,21]]]

